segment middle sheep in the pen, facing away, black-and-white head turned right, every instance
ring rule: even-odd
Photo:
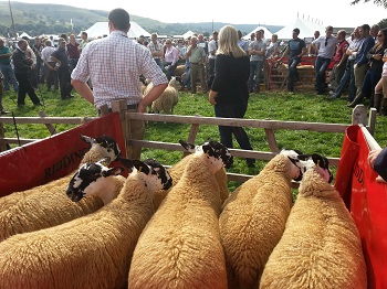
[[[128,278],[132,289],[227,288],[213,173],[230,165],[232,156],[215,141],[199,148],[138,239]]]

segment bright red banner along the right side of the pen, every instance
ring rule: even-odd
[[[349,201],[351,214],[360,234],[368,288],[384,289],[387,288],[387,185],[376,182],[377,173],[367,163],[368,153],[362,127],[348,127],[335,188]]]

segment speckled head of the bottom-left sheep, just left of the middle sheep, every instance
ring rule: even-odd
[[[133,165],[136,168],[135,173],[140,174],[149,190],[168,190],[172,185],[172,178],[169,172],[156,160],[133,160]]]

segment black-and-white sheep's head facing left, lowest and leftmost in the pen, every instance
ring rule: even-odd
[[[124,171],[121,167],[107,168],[109,161],[109,158],[104,158],[98,162],[86,162],[81,165],[67,185],[67,196],[77,202],[86,195],[95,194],[106,176],[117,175]]]

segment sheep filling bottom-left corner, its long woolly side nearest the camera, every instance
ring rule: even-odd
[[[154,213],[153,192],[171,179],[155,160],[133,161],[119,195],[100,211],[55,227],[19,234],[0,243],[0,288],[123,288],[138,236]],[[119,173],[103,165],[100,175]],[[96,174],[96,171],[91,171]],[[83,195],[79,185],[69,196]],[[98,178],[103,181],[105,178]],[[75,196],[74,196],[75,195]]]

